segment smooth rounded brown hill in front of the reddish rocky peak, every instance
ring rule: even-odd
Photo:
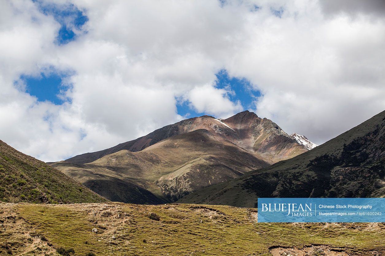
[[[269,164],[220,135],[199,129],[164,139],[139,152],[120,150],[89,164],[63,161],[52,165],[96,192],[108,190],[101,193],[108,199],[117,198],[117,190],[125,189],[122,185],[134,184],[154,197],[138,201],[137,191],[126,190],[119,201],[157,203],[156,199],[175,201]]]

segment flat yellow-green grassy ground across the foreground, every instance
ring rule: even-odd
[[[271,255],[274,247],[320,245],[325,255],[385,253],[383,223],[257,223],[255,209],[231,206],[3,203],[0,222],[0,254],[55,255],[64,247],[76,255]]]

